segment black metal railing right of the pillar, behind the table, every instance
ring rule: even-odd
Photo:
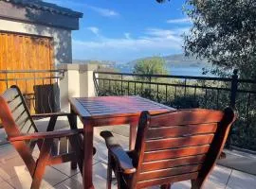
[[[256,81],[232,77],[188,77],[95,72],[99,95],[141,95],[177,109],[236,109],[229,146],[256,151]]]

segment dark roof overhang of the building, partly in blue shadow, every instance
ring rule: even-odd
[[[38,0],[0,0],[0,18],[77,30],[82,13]]]

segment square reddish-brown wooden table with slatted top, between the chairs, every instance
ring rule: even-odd
[[[135,146],[140,112],[174,111],[173,108],[139,96],[101,96],[70,98],[71,112],[78,115],[84,129],[83,188],[94,188],[92,183],[93,128],[130,125],[130,148]]]

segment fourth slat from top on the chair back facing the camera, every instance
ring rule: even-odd
[[[205,154],[208,152],[209,148],[210,145],[206,145],[145,152],[143,162]]]

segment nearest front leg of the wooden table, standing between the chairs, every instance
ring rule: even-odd
[[[92,182],[93,172],[93,125],[90,121],[85,120],[83,123],[83,145],[84,159],[82,167],[83,189],[94,189]]]

